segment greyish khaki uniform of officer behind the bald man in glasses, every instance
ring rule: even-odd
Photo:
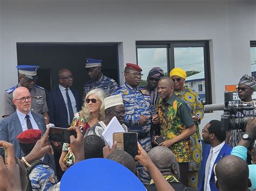
[[[16,110],[15,104],[12,103],[12,93],[17,87],[21,87],[21,84],[18,84],[15,87],[12,87],[8,90],[5,90],[3,96],[3,104],[2,104],[2,117],[9,116],[13,114]],[[31,111],[36,112],[38,114],[42,114],[43,112],[48,112],[48,107],[46,104],[46,96],[44,88],[35,85],[31,90],[30,94],[33,97],[31,103]]]

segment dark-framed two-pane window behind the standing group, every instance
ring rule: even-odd
[[[212,103],[208,41],[137,41],[136,47],[143,86],[152,67],[161,67],[166,76],[179,67],[187,73],[184,86],[196,91],[203,104]]]

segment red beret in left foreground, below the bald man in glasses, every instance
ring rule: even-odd
[[[20,143],[36,143],[39,139],[41,139],[41,130],[38,129],[29,129],[25,130],[22,133],[19,133],[17,139]]]

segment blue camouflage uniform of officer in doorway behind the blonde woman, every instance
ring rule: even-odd
[[[95,89],[95,88],[102,89],[105,92],[106,96],[110,96],[112,91],[117,87],[118,87],[118,84],[116,81],[102,74],[102,77],[100,77],[98,81],[90,80],[89,82],[85,83],[83,102],[86,94],[89,93],[89,91],[91,91],[92,89]]]

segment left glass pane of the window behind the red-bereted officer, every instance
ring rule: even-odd
[[[153,67],[160,67],[167,76],[167,48],[138,48],[138,65],[143,69],[140,86],[146,86],[147,75]]]

